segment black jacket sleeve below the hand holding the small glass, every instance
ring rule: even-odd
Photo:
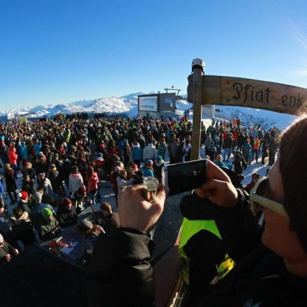
[[[100,235],[88,267],[88,306],[154,306],[152,244],[137,230]]]

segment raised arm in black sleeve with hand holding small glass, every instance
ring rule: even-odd
[[[128,186],[119,194],[121,227],[100,235],[89,264],[89,306],[154,306],[153,242],[147,232],[164,201],[162,187],[154,202],[144,200],[142,186]]]

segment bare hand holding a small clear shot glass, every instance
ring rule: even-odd
[[[165,189],[158,185],[156,199],[147,202],[142,196],[142,185],[127,186],[119,193],[119,220],[121,227],[148,232],[156,225],[165,202]]]

